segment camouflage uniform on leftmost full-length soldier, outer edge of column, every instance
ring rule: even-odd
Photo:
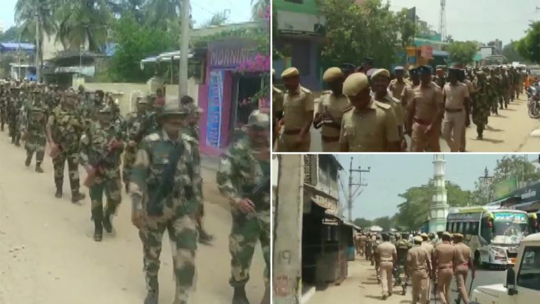
[[[25,116],[21,121],[21,132],[25,134],[26,161],[28,167],[32,161],[34,152],[36,153],[36,172],[43,172],[41,163],[45,156],[45,145],[47,144],[47,136],[45,134],[45,110],[39,105],[34,105],[30,110],[30,115]]]

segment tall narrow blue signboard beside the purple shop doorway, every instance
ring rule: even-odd
[[[211,70],[208,81],[208,113],[206,142],[209,147],[219,148],[223,103],[224,70]]]

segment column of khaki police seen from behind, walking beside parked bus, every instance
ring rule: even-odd
[[[475,278],[470,248],[462,243],[462,234],[437,232],[360,232],[355,234],[356,252],[375,265],[377,282],[382,286],[382,299],[401,286],[406,294],[412,285],[412,303],[429,304],[430,294],[442,304],[450,303],[450,283],[455,277],[458,301],[469,303],[466,281],[470,270]]]

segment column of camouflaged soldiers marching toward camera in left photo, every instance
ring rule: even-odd
[[[213,238],[202,221],[198,119],[203,111],[189,96],[165,101],[162,90],[147,96],[136,92],[132,102],[136,111],[124,119],[112,93],[2,79],[0,130],[7,124],[11,143],[19,147],[25,142],[25,166],[35,154],[38,173],[44,172],[41,163],[49,145],[56,198],[63,196],[67,161],[72,203],[85,199],[79,165],[85,169],[83,185],[90,192],[94,241],[102,241],[103,229],[112,233],[121,192],[130,194],[132,223],[143,245],[144,303],[158,303],[159,256],[167,230],[176,278],[174,304],[185,304],[195,284],[196,244],[209,244]],[[270,303],[270,128],[269,115],[253,111],[222,155],[216,176],[233,214],[229,235],[233,304],[249,303],[245,285],[258,241],[266,263],[261,303]]]

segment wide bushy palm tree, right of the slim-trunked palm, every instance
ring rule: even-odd
[[[112,13],[107,0],[59,1],[56,18],[58,39],[65,48],[79,49],[88,43],[90,51],[97,51],[107,42]]]

